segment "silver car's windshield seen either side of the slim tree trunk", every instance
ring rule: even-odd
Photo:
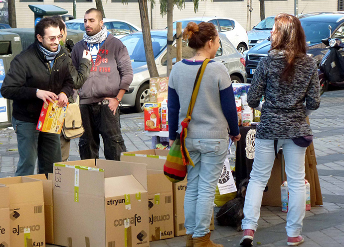
[[[130,59],[133,62],[146,62],[146,54],[142,33],[127,35],[121,38],[121,41],[127,47]],[[152,35],[154,58],[156,58],[164,50],[166,44],[166,36]]]

